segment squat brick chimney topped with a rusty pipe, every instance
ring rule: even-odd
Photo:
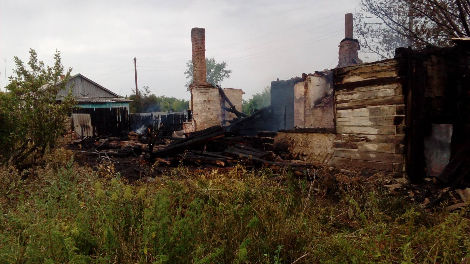
[[[345,14],[345,39],[339,43],[338,65],[336,68],[360,64],[359,41],[352,37],[352,13]]]

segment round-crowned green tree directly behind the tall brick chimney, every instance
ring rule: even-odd
[[[193,61],[189,60],[186,62],[188,69],[185,70],[184,75],[189,81],[186,83],[186,87],[189,87],[193,83]],[[206,58],[206,71],[207,71],[207,82],[211,85],[221,85],[225,78],[230,78],[232,70],[226,70],[227,62],[216,63],[214,58]]]

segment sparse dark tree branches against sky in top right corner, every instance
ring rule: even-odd
[[[470,37],[469,0],[359,0],[355,35],[377,59],[391,58],[396,47],[452,45]]]

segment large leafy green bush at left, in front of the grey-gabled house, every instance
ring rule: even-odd
[[[29,157],[42,155],[56,145],[64,130],[64,121],[76,102],[71,93],[60,97],[71,69],[57,85],[63,73],[60,52],[55,64],[45,67],[36,52],[30,50],[27,67],[15,56],[16,77],[10,77],[6,92],[0,93],[1,162],[18,165]]]

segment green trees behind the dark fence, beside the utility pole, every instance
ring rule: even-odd
[[[166,112],[170,110],[183,111],[189,107],[189,101],[184,99],[177,99],[175,97],[166,97],[164,95],[156,96],[150,93],[149,86],[143,86],[139,90],[139,96],[133,95],[129,99],[133,100],[129,104],[131,113],[145,113],[145,112]]]

